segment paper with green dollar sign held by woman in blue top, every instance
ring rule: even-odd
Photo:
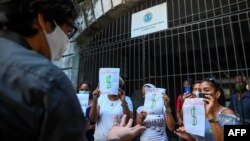
[[[205,136],[205,107],[203,98],[187,98],[183,103],[183,122],[188,133]]]

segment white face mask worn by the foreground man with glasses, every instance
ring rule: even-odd
[[[64,51],[66,50],[69,38],[62,31],[62,29],[55,23],[56,27],[53,32],[47,33],[44,31],[45,37],[49,44],[50,59],[52,61],[60,60]]]

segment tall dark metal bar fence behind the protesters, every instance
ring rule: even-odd
[[[132,13],[167,1],[169,28],[130,38]],[[78,83],[98,83],[101,67],[119,67],[132,95],[144,83],[164,87],[175,104],[185,78],[213,76],[229,98],[232,79],[250,74],[249,0],[149,0],[81,45]]]

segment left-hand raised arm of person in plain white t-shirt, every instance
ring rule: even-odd
[[[99,109],[100,109],[98,107],[99,96],[100,96],[100,90],[97,88],[93,92],[93,102],[92,102],[92,107],[90,109],[90,114],[89,114],[90,121],[92,122],[96,122],[98,120]]]

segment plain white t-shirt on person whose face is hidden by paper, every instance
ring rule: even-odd
[[[132,112],[133,104],[131,99],[126,96],[125,100],[128,103],[129,110]],[[108,132],[113,126],[114,116],[118,115],[118,117],[121,119],[123,115],[121,104],[122,102],[120,99],[111,101],[108,99],[108,95],[101,95],[99,97],[98,105],[100,106],[100,111],[95,127],[95,141],[107,141]]]

